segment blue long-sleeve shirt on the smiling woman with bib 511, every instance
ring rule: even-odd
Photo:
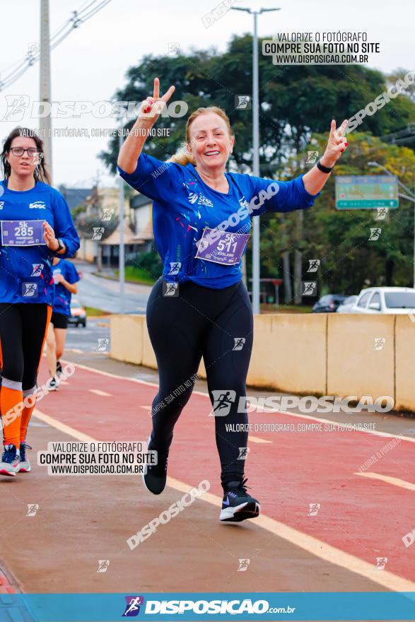
[[[303,175],[279,182],[232,172],[225,173],[226,194],[205,184],[194,165],[165,163],[146,153],[141,153],[131,174],[118,170],[131,187],[153,199],[154,240],[165,281],[193,281],[210,288],[238,283],[242,267],[241,261],[223,265],[195,257],[204,228],[226,223],[221,228],[228,233],[250,233],[251,215],[307,209],[318,196],[307,192]]]

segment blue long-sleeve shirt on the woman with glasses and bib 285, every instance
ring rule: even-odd
[[[58,257],[73,257],[79,248],[79,237],[64,196],[43,182],[37,181],[35,187],[23,191],[9,190],[6,181],[0,182],[1,233],[5,232],[6,221],[47,221],[66,246]],[[54,252],[43,243],[18,246],[6,242],[6,236],[1,236],[0,302],[53,305]]]

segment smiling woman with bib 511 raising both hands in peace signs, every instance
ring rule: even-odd
[[[226,172],[235,141],[229,119],[221,108],[199,108],[187,121],[184,147],[165,163],[142,148],[174,90],[170,86],[159,98],[155,79],[153,98],[143,103],[118,158],[124,180],[153,199],[154,239],[164,266],[146,310],[159,372],[148,449],[158,452],[158,464],[147,467],[143,479],[155,495],[165,488],[173,429],[192,394],[203,356],[221,460],[220,519],[241,521],[260,512],[259,501],[245,486],[241,457],[247,454],[247,413],[238,411],[246,394],[253,336],[252,307],[241,271],[250,216],[312,206],[347,146],[347,122],[336,130],[332,121],[325,153],[305,175],[274,182]]]

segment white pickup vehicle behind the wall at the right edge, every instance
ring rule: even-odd
[[[358,295],[351,313],[415,313],[415,288],[368,287]]]

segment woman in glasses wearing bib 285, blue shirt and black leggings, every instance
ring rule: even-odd
[[[0,159],[0,474],[16,476],[30,471],[25,439],[52,314],[52,258],[71,257],[79,238],[64,197],[49,185],[35,131],[13,129]]]

